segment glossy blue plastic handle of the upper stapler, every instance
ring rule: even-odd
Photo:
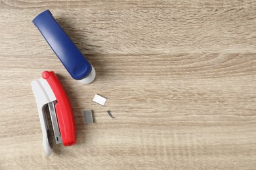
[[[91,73],[91,64],[56,22],[50,10],[45,10],[35,17],[33,24],[39,29],[58,59],[75,80],[86,78]]]

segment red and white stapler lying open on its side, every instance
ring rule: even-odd
[[[47,118],[47,109],[51,116],[56,144],[70,146],[76,143],[75,120],[68,95],[53,71],[44,71],[42,78],[32,82],[33,95],[43,133],[43,148],[50,156],[53,152],[53,137]]]

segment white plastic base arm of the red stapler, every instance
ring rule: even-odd
[[[50,156],[53,152],[53,148],[51,148],[48,141],[47,130],[49,127],[43,109],[45,109],[44,107],[47,103],[55,101],[56,97],[47,80],[43,78],[32,82],[32,90],[33,95],[35,95],[35,101],[37,102],[37,111],[39,114],[41,129],[43,133],[43,148],[45,150],[45,154]]]

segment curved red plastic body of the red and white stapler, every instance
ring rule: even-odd
[[[64,146],[70,146],[76,143],[75,120],[73,110],[68,99],[68,95],[60,80],[53,71],[44,71],[42,77],[47,80],[53,93],[56,97],[57,103],[55,105],[56,116],[58,119],[58,127],[62,137]]]

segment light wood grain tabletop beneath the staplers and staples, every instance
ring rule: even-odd
[[[46,9],[95,67],[92,84],[32,24]],[[0,169],[256,169],[255,16],[249,0],[0,0]],[[77,127],[50,157],[30,85],[45,70]]]

